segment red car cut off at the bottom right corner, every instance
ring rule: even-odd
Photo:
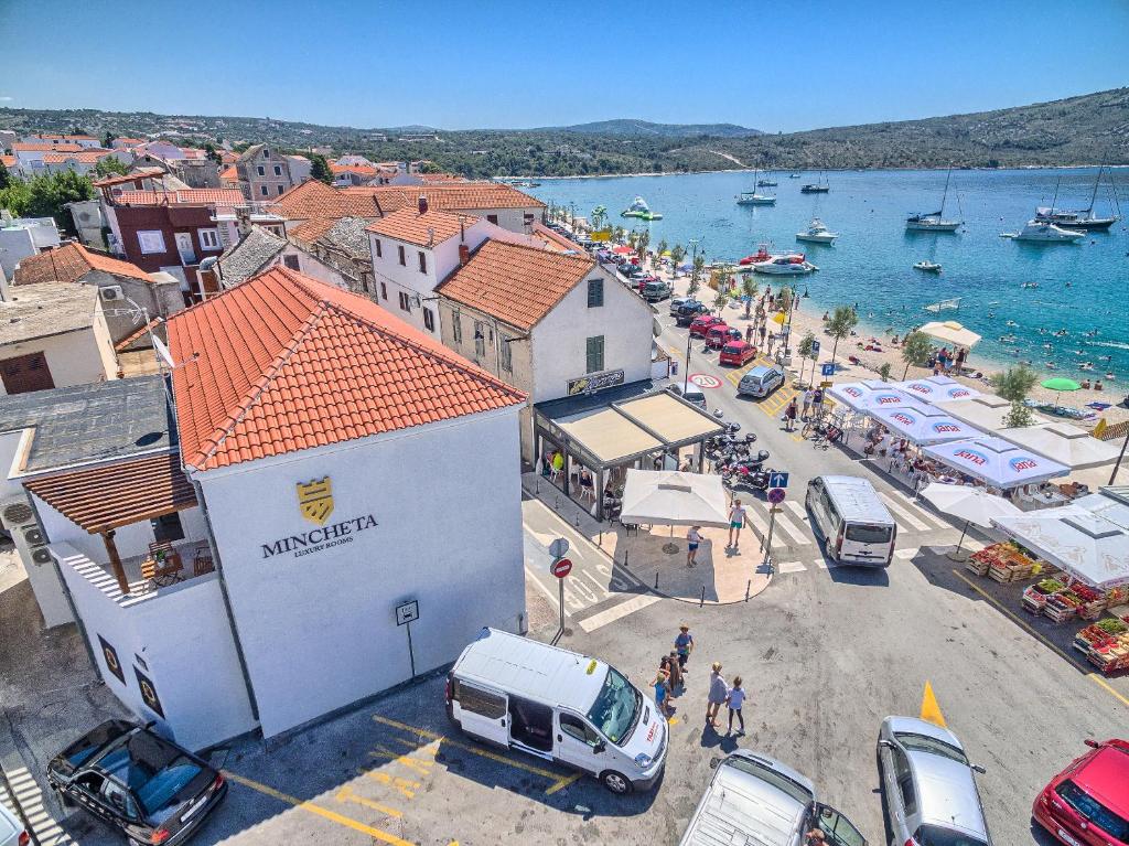
[[[1129,741],[1086,745],[1091,751],[1043,787],[1031,813],[1067,846],[1129,846]]]

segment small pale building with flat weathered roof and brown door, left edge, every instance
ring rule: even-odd
[[[0,394],[116,378],[114,341],[98,289],[14,286],[0,302]]]

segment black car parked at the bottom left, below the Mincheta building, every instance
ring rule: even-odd
[[[227,795],[224,776],[192,752],[121,719],[103,723],[47,764],[64,804],[77,802],[131,844],[178,846]]]

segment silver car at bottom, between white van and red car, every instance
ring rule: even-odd
[[[917,717],[886,717],[878,770],[896,846],[991,846],[973,771],[961,741]]]

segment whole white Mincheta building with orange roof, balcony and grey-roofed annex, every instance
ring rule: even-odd
[[[525,630],[519,391],[285,268],[167,329],[174,402],[154,376],[0,408],[44,619],[139,719],[269,738]]]

